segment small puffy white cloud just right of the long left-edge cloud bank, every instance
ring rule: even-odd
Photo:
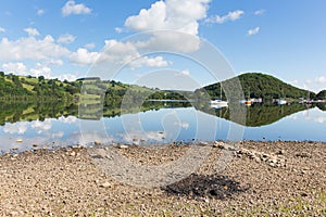
[[[89,52],[85,48],[79,48],[70,55],[70,60],[76,64],[88,65],[95,63],[99,56],[100,54],[98,52]]]

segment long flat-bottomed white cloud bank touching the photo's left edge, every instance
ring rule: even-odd
[[[68,53],[70,51],[57,44],[50,35],[40,40],[28,37],[15,41],[2,38],[0,41],[0,60],[2,61],[52,60]]]

